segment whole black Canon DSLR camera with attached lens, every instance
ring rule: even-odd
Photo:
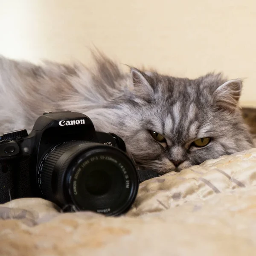
[[[158,176],[137,171],[115,134],[95,131],[82,113],[45,112],[32,131],[0,139],[0,204],[40,197],[65,211],[120,215],[133,204],[139,183]]]

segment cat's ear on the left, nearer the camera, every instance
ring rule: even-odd
[[[134,94],[145,100],[151,99],[154,95],[154,90],[150,85],[150,76],[136,68],[131,68],[131,77]]]

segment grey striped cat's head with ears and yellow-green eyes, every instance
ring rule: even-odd
[[[253,147],[237,108],[241,81],[131,74],[134,88],[116,126],[138,166],[177,172]]]

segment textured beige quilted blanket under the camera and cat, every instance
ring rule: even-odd
[[[0,207],[0,256],[256,255],[256,148],[143,182],[122,217]]]

